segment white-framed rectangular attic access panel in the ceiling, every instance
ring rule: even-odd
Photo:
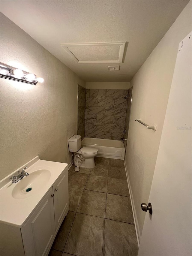
[[[61,44],[76,63],[122,63],[126,42]]]

